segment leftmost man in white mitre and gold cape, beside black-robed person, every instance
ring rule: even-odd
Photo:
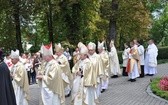
[[[29,83],[27,71],[19,60],[19,50],[11,51],[11,59],[13,67],[11,69],[11,76],[13,78],[12,84],[14,87],[17,105],[28,105],[28,90]]]

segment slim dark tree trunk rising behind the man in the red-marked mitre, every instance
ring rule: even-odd
[[[53,44],[53,26],[52,26],[52,5],[51,0],[48,0],[48,33],[49,33],[49,41]]]

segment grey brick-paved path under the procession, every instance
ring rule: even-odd
[[[158,65],[156,76],[163,75],[168,75],[168,64]],[[128,77],[122,76],[110,79],[108,90],[99,98],[100,105],[168,105],[166,101],[155,98],[146,92],[151,78],[153,77],[145,76],[145,78],[136,79],[136,82],[129,82]],[[38,85],[31,85],[29,105],[39,105],[39,99]],[[70,105],[70,97],[66,98],[66,105]]]

